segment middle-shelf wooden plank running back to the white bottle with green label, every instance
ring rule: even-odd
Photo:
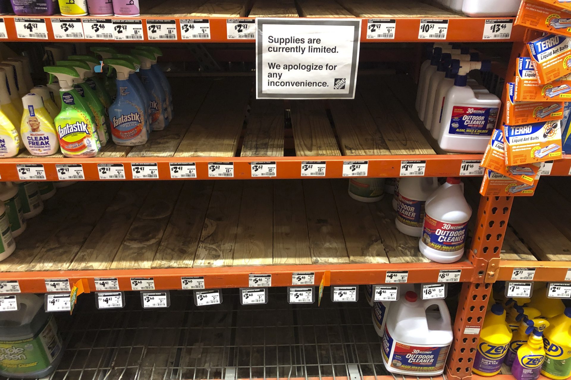
[[[349,197],[346,179],[332,180],[331,187],[351,263],[388,263],[368,203]]]

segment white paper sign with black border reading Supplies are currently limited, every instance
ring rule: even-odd
[[[256,26],[257,99],[355,97],[360,19],[256,18]]]

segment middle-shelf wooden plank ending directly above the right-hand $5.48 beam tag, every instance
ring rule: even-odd
[[[274,264],[311,264],[303,181],[274,183]]]

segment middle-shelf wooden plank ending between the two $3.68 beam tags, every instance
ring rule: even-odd
[[[156,251],[153,268],[192,267],[213,187],[212,181],[184,183]]]

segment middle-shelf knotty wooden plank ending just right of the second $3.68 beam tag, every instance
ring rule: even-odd
[[[242,187],[242,181],[215,182],[193,267],[232,265]]]

